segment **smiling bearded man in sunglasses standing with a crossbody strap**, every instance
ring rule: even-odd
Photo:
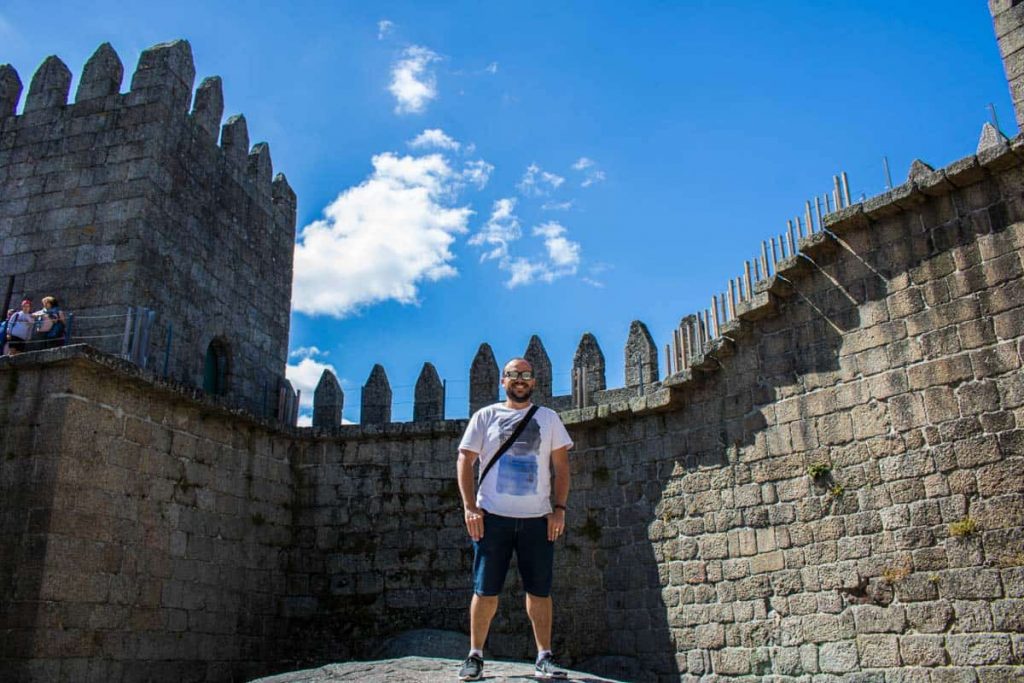
[[[537,675],[566,677],[551,654],[551,581],[554,543],[565,530],[572,439],[558,414],[530,403],[536,385],[529,362],[509,360],[502,377],[506,400],[477,411],[459,444],[459,490],[473,540],[470,651],[459,672],[463,681],[483,675],[483,643],[513,552],[537,641]],[[481,480],[474,494],[477,458]]]

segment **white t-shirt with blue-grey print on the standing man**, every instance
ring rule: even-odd
[[[481,408],[469,419],[459,449],[480,454],[480,472],[529,408],[505,403]],[[515,443],[490,468],[476,494],[476,504],[504,517],[541,517],[551,512],[551,452],[572,447],[558,414],[541,407]]]

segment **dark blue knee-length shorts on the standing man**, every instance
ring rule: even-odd
[[[522,587],[530,595],[551,595],[555,544],[548,541],[548,518],[502,517],[484,511],[483,538],[473,542],[473,591],[498,595],[505,585],[512,553]]]

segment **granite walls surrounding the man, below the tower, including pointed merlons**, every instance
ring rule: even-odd
[[[990,7],[1016,54],[1024,4]],[[9,83],[0,70],[0,101]],[[660,377],[638,323],[625,387],[585,336],[572,394],[545,396],[575,441],[566,664],[1024,680],[1024,136],[986,126],[975,154],[914,162],[825,228],[688,370]],[[530,353],[550,377],[539,338]],[[306,429],[174,379],[85,346],[0,360],[0,677],[244,680],[465,632],[465,421],[439,419],[432,366],[414,422],[390,422],[375,367],[364,424],[340,424],[326,377]],[[484,344],[471,404],[497,394]],[[490,655],[530,654],[518,600]]]

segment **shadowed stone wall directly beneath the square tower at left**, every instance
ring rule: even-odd
[[[4,368],[0,678],[267,671],[288,632],[290,440],[83,348]]]

